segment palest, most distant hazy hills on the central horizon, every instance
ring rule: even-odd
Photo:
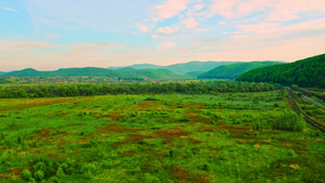
[[[218,67],[220,65],[229,65],[229,64],[234,64],[238,62],[214,62],[214,61],[209,61],[209,62],[198,62],[198,61],[192,61],[187,63],[181,63],[181,64],[173,64],[173,65],[168,65],[168,66],[160,66],[160,65],[153,65],[153,64],[135,64],[135,65],[130,65],[127,66],[128,68],[135,68],[135,69],[168,69],[173,73],[178,74],[187,74],[192,71],[208,71],[214,67]],[[121,69],[123,67],[108,67],[108,69]]]

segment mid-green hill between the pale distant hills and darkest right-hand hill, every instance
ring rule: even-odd
[[[207,73],[198,75],[197,79],[236,79],[245,71],[275,64],[281,64],[281,62],[249,62],[221,65]]]

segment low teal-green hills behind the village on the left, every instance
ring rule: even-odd
[[[54,71],[39,71],[32,68],[5,73],[3,76],[17,77],[55,77],[55,76],[99,76],[115,78],[143,78],[143,79],[185,79],[190,76],[174,74],[167,69],[122,69],[112,70],[99,67],[61,68]]]

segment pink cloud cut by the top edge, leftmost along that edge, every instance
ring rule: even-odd
[[[178,15],[181,11],[186,10],[188,0],[167,0],[160,5],[151,9],[154,21],[161,21]]]

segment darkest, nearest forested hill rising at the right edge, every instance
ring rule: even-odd
[[[240,75],[238,81],[276,82],[299,87],[325,88],[325,54],[289,64],[252,69]]]

